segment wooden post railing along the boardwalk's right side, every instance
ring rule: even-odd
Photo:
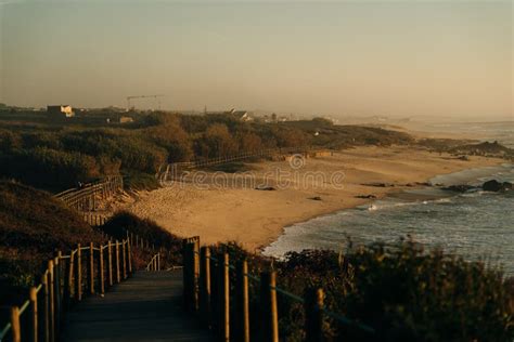
[[[230,272],[235,273],[235,299],[230,297]],[[183,240],[183,303],[184,307],[197,313],[206,328],[213,328],[220,341],[248,342],[250,338],[249,281],[259,285],[259,337],[258,341],[279,341],[279,312],[277,295],[284,295],[298,302],[305,308],[305,331],[307,341],[323,340],[324,316],[334,321],[357,329],[368,337],[374,336],[373,328],[348,319],[327,310],[323,304],[323,290],[309,289],[304,297],[291,293],[277,286],[275,273],[264,272],[259,277],[248,273],[246,261],[233,265],[227,252],[214,256],[208,247],[200,247],[200,238]],[[211,285],[216,281],[216,291]],[[231,301],[235,305],[231,305]],[[230,308],[236,308],[237,317],[231,329]],[[236,336],[231,337],[231,331]]]

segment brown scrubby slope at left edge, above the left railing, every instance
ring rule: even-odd
[[[102,235],[49,193],[0,181],[0,305],[20,304],[56,250],[91,241]]]

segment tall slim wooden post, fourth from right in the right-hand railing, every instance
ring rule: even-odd
[[[219,340],[230,341],[230,284],[229,284],[229,253],[218,256],[218,329]],[[262,340],[265,341],[265,340]]]

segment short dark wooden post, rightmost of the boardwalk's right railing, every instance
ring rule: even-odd
[[[307,342],[323,341],[323,290],[310,288],[305,293],[305,331]]]

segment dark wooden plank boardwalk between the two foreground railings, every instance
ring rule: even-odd
[[[182,308],[182,272],[138,272],[66,316],[62,341],[214,341]]]

